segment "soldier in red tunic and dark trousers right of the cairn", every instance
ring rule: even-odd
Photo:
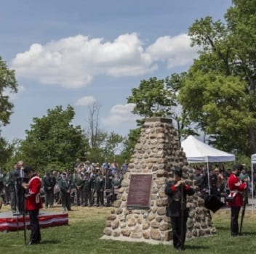
[[[239,212],[243,205],[242,193],[247,189],[247,182],[241,182],[239,175],[243,166],[237,164],[233,166],[233,171],[228,178],[228,189],[230,190],[228,205],[231,207],[231,235],[239,236]],[[227,199],[228,200],[228,199]]]

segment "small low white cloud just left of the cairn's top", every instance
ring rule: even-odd
[[[116,127],[124,123],[135,123],[137,115],[132,114],[135,104],[115,105],[111,108],[110,115],[102,118],[101,121],[105,126]]]

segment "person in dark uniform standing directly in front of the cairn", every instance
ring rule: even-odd
[[[182,175],[182,168],[176,168],[174,181],[168,182],[165,187],[165,194],[168,196],[167,216],[171,218],[173,247],[177,250],[183,250],[185,243],[188,218],[186,196],[194,194],[193,188],[181,179]]]

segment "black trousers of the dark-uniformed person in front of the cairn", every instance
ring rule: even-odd
[[[171,217],[172,222],[172,242],[173,247],[178,250],[182,250],[185,243],[185,234],[187,231],[187,217],[184,217],[183,219],[183,225],[181,217]],[[181,227],[183,226],[183,230],[181,230]],[[183,234],[183,235],[182,235]]]

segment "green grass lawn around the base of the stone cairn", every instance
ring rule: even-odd
[[[7,210],[4,207],[0,210]],[[36,253],[36,254],[122,254],[122,253],[179,253],[172,245],[150,245],[143,242],[120,242],[100,239],[103,236],[106,217],[112,208],[81,208],[74,207],[69,213],[68,226],[56,226],[41,229],[40,245],[24,245],[24,234],[20,232],[0,232],[0,253]],[[60,211],[61,208],[49,210]],[[230,235],[230,210],[221,209],[212,213],[212,222],[217,234],[212,237],[191,239],[185,242],[183,253],[256,253],[256,210],[247,210],[244,218],[243,237]],[[30,231],[27,231],[29,239]]]

